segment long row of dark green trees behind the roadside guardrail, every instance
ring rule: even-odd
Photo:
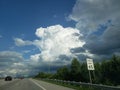
[[[110,60],[94,63],[90,71],[92,82],[106,85],[120,85],[120,57],[113,55]],[[59,68],[56,73],[40,72],[35,78],[50,78],[77,82],[90,82],[86,62],[73,58],[70,66]]]

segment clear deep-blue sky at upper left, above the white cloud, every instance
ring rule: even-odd
[[[74,0],[0,0],[0,50],[12,47],[15,37],[33,40],[39,27],[73,26],[73,22],[67,22],[65,17],[74,3]]]

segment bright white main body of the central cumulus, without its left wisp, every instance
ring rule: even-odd
[[[36,45],[41,48],[39,57],[44,61],[54,61],[60,55],[71,56],[70,49],[82,47],[85,44],[80,40],[82,35],[79,30],[71,27],[64,28],[61,25],[40,27],[35,34],[40,38],[39,41],[34,42],[37,42]],[[35,56],[38,58],[38,54]]]

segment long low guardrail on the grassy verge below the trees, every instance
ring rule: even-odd
[[[75,81],[65,81],[65,80],[58,80],[58,79],[44,79],[44,80],[54,81],[56,83],[62,83],[62,84],[77,85],[77,86],[80,86],[80,87],[88,87],[88,88],[90,87],[93,90],[120,90],[120,87],[117,87],[117,86],[91,84],[91,83],[75,82]]]

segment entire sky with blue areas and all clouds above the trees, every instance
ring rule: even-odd
[[[0,76],[29,76],[120,56],[120,0],[0,0]]]

